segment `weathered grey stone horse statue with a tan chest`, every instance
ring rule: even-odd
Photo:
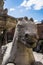
[[[7,45],[1,65],[35,65],[32,48],[37,42],[37,28],[34,22],[18,19],[13,41]]]

